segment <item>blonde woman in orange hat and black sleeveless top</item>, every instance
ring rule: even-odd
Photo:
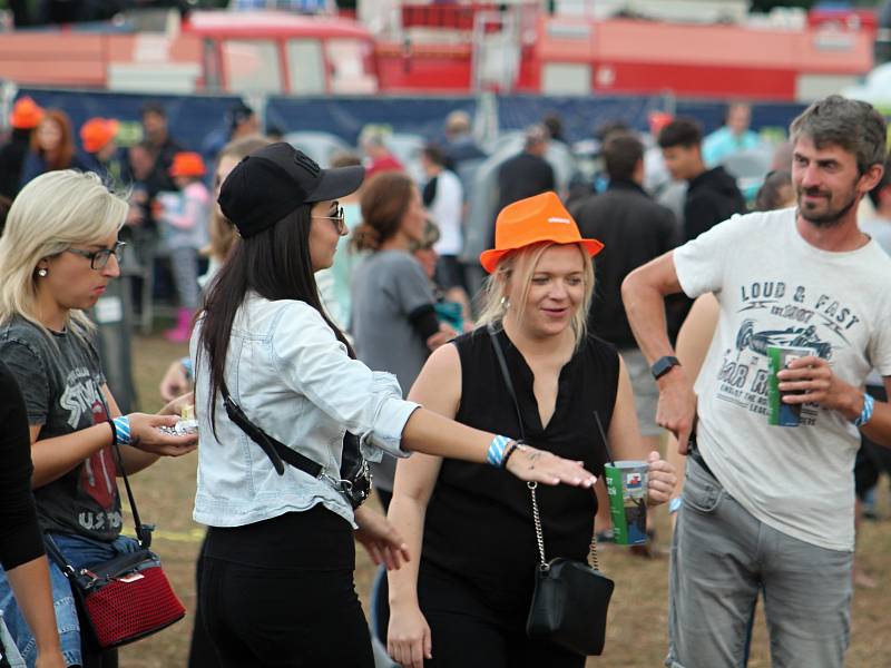
[[[597,414],[616,459],[649,461],[649,503],[664,503],[675,485],[674,470],[642,446],[618,353],[586,332],[590,258],[601,247],[580,237],[554,193],[505,207],[496,247],[480,256],[491,274],[482,326],[438,348],[409,396],[477,429],[525,434],[601,474],[607,453]],[[539,488],[538,504],[548,553],[585,561],[595,494]],[[585,665],[585,657],[525,633],[538,563],[527,485],[491,468],[417,456],[399,462],[389,519],[412,553],[421,553],[389,573],[388,648],[396,661],[415,668]]]

